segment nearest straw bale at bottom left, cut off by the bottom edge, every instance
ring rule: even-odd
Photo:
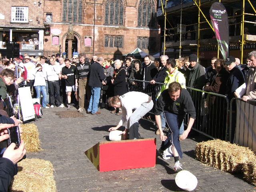
[[[10,185],[10,192],[56,192],[50,161],[41,159],[24,159],[18,163],[18,174]]]

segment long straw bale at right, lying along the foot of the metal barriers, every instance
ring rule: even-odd
[[[241,172],[244,164],[255,158],[254,152],[249,148],[222,140],[200,142],[195,151],[202,163],[230,173]]]

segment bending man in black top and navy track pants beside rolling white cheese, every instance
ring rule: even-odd
[[[166,136],[162,131],[161,112],[164,112],[164,118],[169,127]],[[189,115],[188,127],[179,138],[179,129],[186,114]],[[182,158],[180,140],[187,138],[196,118],[196,110],[189,92],[184,88],[182,89],[178,82],[170,83],[168,89],[164,90],[158,97],[155,106],[155,118],[162,140],[159,152],[164,159],[170,159],[170,157],[166,158],[166,150],[169,150],[169,153],[174,156],[174,171],[179,172],[182,170],[182,164],[179,161],[179,158]]]

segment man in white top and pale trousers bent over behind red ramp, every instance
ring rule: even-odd
[[[108,99],[108,104],[115,108],[122,108],[122,119],[116,127],[111,127],[109,131],[117,130],[126,123],[124,139],[140,139],[138,120],[153,108],[153,101],[150,96],[142,92],[128,92],[121,96],[114,96]],[[134,112],[132,112],[134,110]]]

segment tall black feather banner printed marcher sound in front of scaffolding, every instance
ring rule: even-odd
[[[215,36],[220,46],[222,57],[226,59],[229,56],[229,30],[228,14],[224,5],[220,2],[214,2],[210,8],[210,18],[214,28]]]

